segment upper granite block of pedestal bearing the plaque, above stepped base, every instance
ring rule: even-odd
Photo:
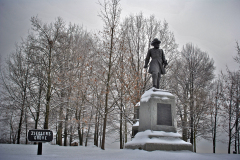
[[[175,96],[161,89],[149,89],[140,101],[138,131],[177,132]]]

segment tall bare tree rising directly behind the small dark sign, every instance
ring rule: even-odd
[[[60,40],[64,35],[62,31],[64,29],[64,22],[61,18],[58,18],[55,23],[44,24],[38,17],[31,18],[32,30],[36,36],[32,36],[31,48],[36,50],[40,58],[40,62],[44,66],[44,72],[46,74],[46,110],[45,110],[45,122],[44,129],[48,129],[49,123],[49,110],[52,94],[52,80],[53,80],[53,60],[56,53],[56,48],[60,45]]]

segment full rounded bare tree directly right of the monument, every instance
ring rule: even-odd
[[[174,82],[171,87],[179,100],[177,107],[182,122],[183,139],[188,139],[187,130],[190,128],[190,142],[194,144],[194,151],[198,127],[201,126],[198,124],[203,120],[202,116],[206,111],[201,101],[207,100],[206,93],[214,78],[213,65],[214,62],[207,53],[192,44],[186,44],[173,68]]]

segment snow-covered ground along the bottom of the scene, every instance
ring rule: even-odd
[[[0,144],[0,160],[239,160],[240,155],[200,154],[190,151],[143,151],[89,147],[63,147],[43,144],[43,154],[37,155],[37,145]]]

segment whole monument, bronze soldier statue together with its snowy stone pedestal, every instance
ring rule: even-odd
[[[145,67],[149,58],[153,88],[146,91],[140,100],[139,123],[133,125],[135,134],[131,142],[125,144],[127,149],[154,150],[189,150],[192,144],[181,139],[177,133],[175,96],[159,88],[161,74],[165,74],[167,61],[163,51],[159,49],[160,41],[154,39],[152,45],[155,50],[148,51]],[[156,47],[157,46],[157,47]],[[138,126],[138,128],[137,128]],[[137,130],[137,132],[136,132]]]

